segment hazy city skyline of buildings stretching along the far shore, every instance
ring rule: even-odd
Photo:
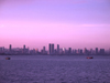
[[[6,49],[4,46],[0,48],[0,55],[110,55],[110,50],[106,51],[105,49],[98,49],[95,50],[90,49],[65,49],[59,48],[59,44],[57,44],[57,48],[55,49],[53,43],[48,44],[48,50],[43,46],[41,51],[38,49],[30,50],[29,48],[12,48],[12,45],[9,45],[9,49]]]

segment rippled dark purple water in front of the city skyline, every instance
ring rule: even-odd
[[[0,83],[110,83],[110,56],[0,56]]]

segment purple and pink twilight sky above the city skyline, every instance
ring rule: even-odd
[[[110,48],[110,0],[0,0],[0,46]]]

